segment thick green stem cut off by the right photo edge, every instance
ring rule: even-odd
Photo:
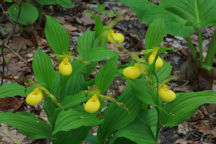
[[[210,41],[208,52],[205,60],[205,64],[208,66],[213,65],[214,56],[216,54],[216,30],[214,31],[214,34],[212,36],[212,39]]]

